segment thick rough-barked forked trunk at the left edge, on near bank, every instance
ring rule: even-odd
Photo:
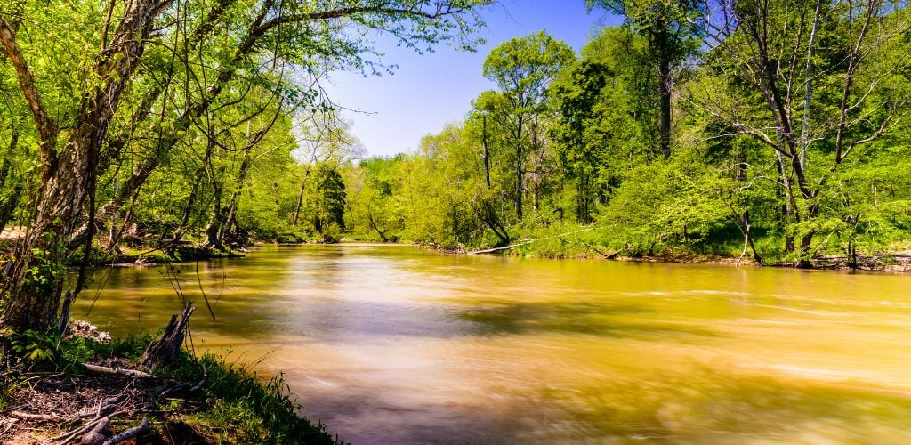
[[[81,100],[76,125],[59,154],[56,125],[37,95],[25,59],[0,16],[0,39],[7,56],[14,58],[20,88],[33,111],[43,162],[35,217],[20,244],[5,288],[8,298],[3,327],[46,332],[56,325],[66,275],[66,244],[77,229],[83,203],[94,190],[101,141],[117,112],[120,93],[138,67],[159,6],[151,0],[128,2],[110,47],[95,59],[92,67],[94,76],[106,80]],[[114,57],[117,54],[121,56]],[[89,224],[89,240],[92,228],[94,225]]]

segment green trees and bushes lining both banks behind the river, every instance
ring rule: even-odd
[[[906,258],[906,4],[589,0],[624,25],[580,54],[543,31],[501,43],[464,121],[363,159],[320,83],[388,69],[374,31],[470,49],[490,3],[0,6],[0,229],[24,228],[0,258],[6,362],[30,357],[15,336],[59,335],[89,264],[187,259],[188,243]]]

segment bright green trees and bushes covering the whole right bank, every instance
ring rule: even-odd
[[[747,254],[796,264],[906,248],[911,158],[908,124],[896,117],[911,99],[911,42],[864,35],[858,19],[870,14],[895,31],[911,18],[906,8],[855,5],[847,16],[848,5],[820,4],[814,20],[812,3],[736,4],[733,14],[759,27],[707,35],[705,5],[589,5],[623,14],[626,25],[602,29],[580,59],[543,33],[504,42],[484,65],[499,89],[476,98],[464,123],[413,156],[349,170],[353,233],[446,248],[522,243],[514,252],[545,256]],[[751,30],[762,26],[775,31]],[[851,38],[864,56],[845,87]],[[780,77],[751,77],[775,60],[799,62]],[[660,103],[670,80],[664,150],[656,128],[670,112]],[[783,98],[791,133],[769,105]]]

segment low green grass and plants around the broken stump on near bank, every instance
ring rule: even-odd
[[[39,335],[33,331],[9,334],[7,341],[14,354],[6,357],[5,362],[16,364],[0,374],[3,377],[0,409],[15,398],[15,391],[22,388],[19,383],[29,373],[54,372],[77,378],[82,374],[81,364],[87,362],[113,361],[115,366],[138,368],[152,338],[143,334],[101,343],[81,336],[61,340],[56,335]],[[343,443],[333,438],[322,423],[314,425],[298,415],[301,407],[283,374],[266,380],[248,365],[229,362],[211,353],[197,357],[186,350],[181,350],[176,365],[159,367],[154,374],[166,381],[202,382],[199,390],[181,394],[180,398],[159,397],[156,403],[162,414],[158,420],[165,425],[188,425],[195,434],[211,442]]]

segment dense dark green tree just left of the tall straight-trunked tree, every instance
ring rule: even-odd
[[[550,86],[557,114],[550,136],[567,179],[576,181],[580,223],[592,221],[596,202],[607,202],[622,172],[654,147],[657,107],[644,40],[625,27],[605,28]]]

